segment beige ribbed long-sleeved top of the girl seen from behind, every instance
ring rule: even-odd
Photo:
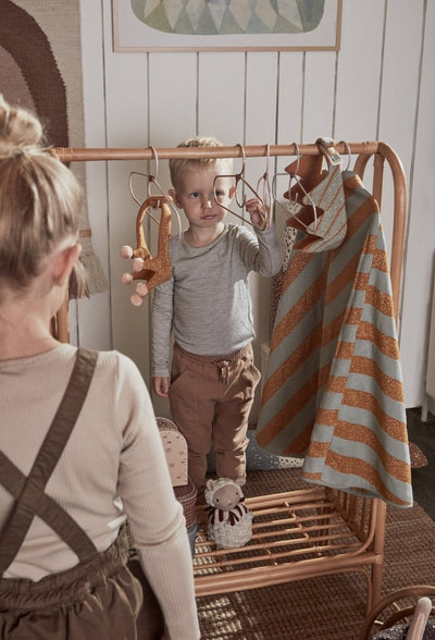
[[[62,344],[38,356],[0,361],[0,446],[26,475],[75,356],[75,347]],[[171,485],[148,390],[130,359],[100,353],[85,405],[46,492],[99,551],[114,541],[127,516],[171,638],[199,638],[183,509]],[[0,487],[0,530],[12,505]],[[36,517],[3,577],[39,580],[76,563],[76,555]]]

